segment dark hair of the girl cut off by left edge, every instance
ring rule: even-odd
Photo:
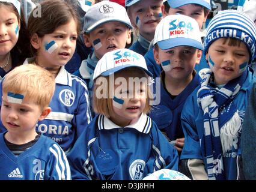
[[[17,16],[17,20],[20,24],[19,38],[17,40],[17,43],[13,47],[13,49],[11,49],[11,54],[19,57],[19,61],[17,63],[12,64],[12,67],[16,67],[17,65],[23,64],[25,59],[30,57],[30,54],[28,52],[29,44],[30,44],[28,29],[26,28],[23,10],[20,10],[20,14],[21,14],[20,16],[18,10],[16,9],[16,7],[14,7],[13,4],[9,2],[0,2],[0,7],[1,7],[1,4],[9,8],[10,11],[12,11]]]

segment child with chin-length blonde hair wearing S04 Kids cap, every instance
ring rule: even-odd
[[[106,53],[94,70],[93,107],[99,115],[67,156],[72,179],[141,180],[178,169],[178,153],[146,113],[151,73],[129,49]]]

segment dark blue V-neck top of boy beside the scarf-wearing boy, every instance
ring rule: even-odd
[[[167,134],[170,140],[184,137],[180,121],[181,111],[187,97],[189,97],[201,82],[201,77],[195,72],[194,74],[189,85],[174,99],[171,98],[169,92],[164,88],[163,82],[161,82],[160,103],[152,106],[151,112],[148,114],[156,122],[157,127]],[[164,76],[162,77],[162,80],[164,80]]]

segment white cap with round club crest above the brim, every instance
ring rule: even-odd
[[[108,22],[121,22],[132,29],[126,9],[111,1],[102,1],[92,5],[84,17],[84,32],[90,33],[98,26]]]

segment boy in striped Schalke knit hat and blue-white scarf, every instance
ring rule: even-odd
[[[254,22],[240,11],[219,12],[207,28],[209,70],[181,113],[181,172],[191,179],[242,179],[240,136],[254,74]]]

